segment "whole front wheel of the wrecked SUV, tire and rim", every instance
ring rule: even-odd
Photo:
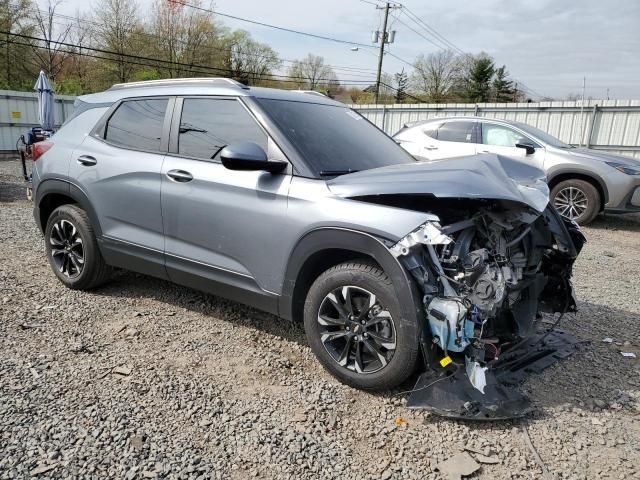
[[[364,315],[366,325],[362,319],[344,320],[349,311],[346,297],[355,316],[369,312]],[[364,390],[391,389],[415,371],[419,353],[415,322],[402,317],[389,277],[367,262],[342,263],[321,274],[304,307],[307,340],[320,363],[343,383]],[[360,361],[356,361],[358,348]]]

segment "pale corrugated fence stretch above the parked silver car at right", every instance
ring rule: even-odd
[[[477,115],[527,123],[572,145],[640,158],[640,100],[352,107],[390,135],[416,120]]]

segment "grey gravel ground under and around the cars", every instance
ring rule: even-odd
[[[524,384],[535,413],[465,423],[338,383],[242,305],[126,272],[64,288],[18,173],[0,162],[0,479],[435,479],[460,452],[471,478],[640,478],[639,216],[585,228],[563,322],[585,346]]]

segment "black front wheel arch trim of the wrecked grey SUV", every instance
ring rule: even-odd
[[[294,247],[279,300],[279,314],[288,320],[302,318],[307,292],[318,276],[344,261],[366,258],[391,279],[402,315],[420,325],[422,303],[417,286],[378,238],[343,228],[320,228],[307,233]],[[417,333],[417,332],[416,332]]]

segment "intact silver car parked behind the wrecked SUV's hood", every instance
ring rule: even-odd
[[[640,212],[640,161],[576,148],[520,122],[437,118],[405,125],[394,139],[429,160],[496,153],[543,169],[558,211],[580,224],[598,213]]]

